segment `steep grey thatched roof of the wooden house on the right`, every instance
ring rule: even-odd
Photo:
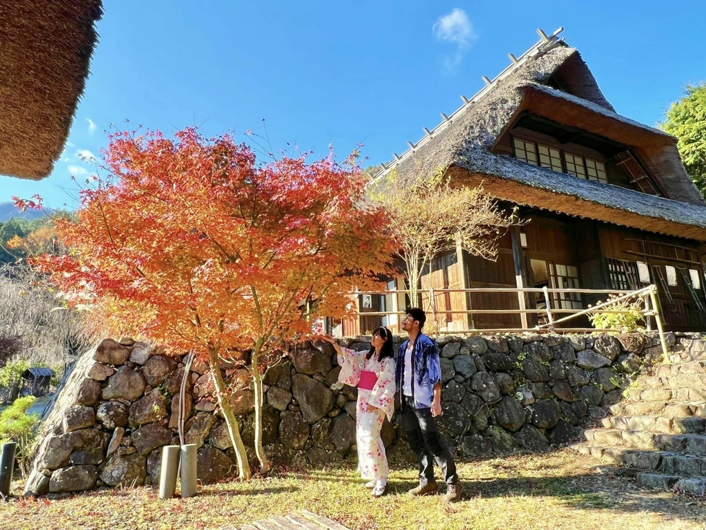
[[[566,90],[547,86],[560,75]],[[491,153],[521,112],[630,146],[670,199],[589,182]],[[499,199],[609,223],[706,241],[706,207],[681,164],[676,139],[616,114],[577,50],[541,40],[393,163],[407,182],[448,168],[454,179],[484,182]]]

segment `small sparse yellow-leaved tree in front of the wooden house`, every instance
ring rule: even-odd
[[[393,170],[371,184],[369,196],[388,215],[390,234],[407,267],[412,304],[419,300],[422,273],[434,257],[460,243],[470,254],[495,261],[498,239],[510,226],[522,224],[517,208],[504,211],[481,186],[452,187],[443,170],[413,184]]]

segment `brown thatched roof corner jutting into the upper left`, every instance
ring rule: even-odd
[[[64,149],[102,0],[0,3],[0,175],[42,179]]]

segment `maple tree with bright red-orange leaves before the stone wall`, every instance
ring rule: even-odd
[[[363,206],[352,159],[261,164],[230,136],[116,133],[107,177],[81,192],[56,230],[73,251],[35,260],[73,303],[109,308],[121,329],[208,360],[240,478],[251,471],[219,366],[250,359],[261,469],[262,376],[283,343],[318,317],[354,314],[352,290],[380,288],[390,249],[380,211]]]

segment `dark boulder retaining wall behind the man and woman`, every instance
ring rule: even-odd
[[[346,345],[368,348],[361,337]],[[642,334],[443,337],[438,345],[440,428],[461,458],[543,451],[579,437],[621,400],[644,360],[662,356],[659,340]],[[323,343],[292,347],[265,375],[263,441],[275,464],[321,466],[354,456],[357,390],[337,384],[339,370],[333,348]],[[102,341],[78,360],[61,389],[25,493],[156,484],[161,447],[179,443],[183,373],[182,358],[145,343]],[[252,447],[247,372],[224,365],[222,375],[237,389],[230,402]],[[210,483],[232,475],[234,454],[205,364],[192,366],[185,401],[186,443],[199,445],[198,478]],[[391,424],[385,420],[383,442],[390,455],[409,459],[400,423],[397,416]]]

